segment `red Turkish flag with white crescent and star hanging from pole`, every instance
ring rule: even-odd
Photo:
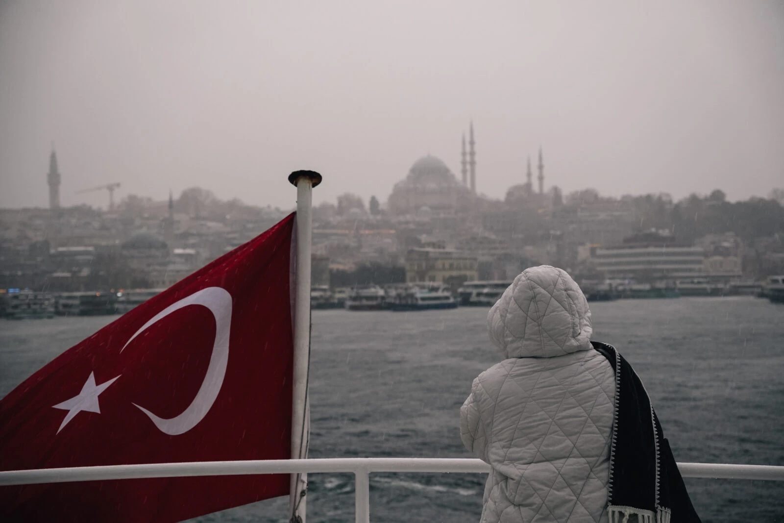
[[[0,401],[0,470],[289,459],[292,213],[66,350]],[[287,474],[0,488],[2,521],[180,521]]]

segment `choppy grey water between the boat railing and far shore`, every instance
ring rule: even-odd
[[[591,303],[594,340],[645,383],[678,461],[784,465],[784,306],[750,297]],[[487,311],[314,311],[311,457],[472,457],[471,380],[499,361]],[[0,396],[114,318],[0,321]],[[372,521],[478,521],[482,474],[374,474]],[[784,521],[784,484],[687,479],[702,521]],[[198,521],[285,521],[285,499]],[[312,474],[309,521],[353,521],[350,474]]]

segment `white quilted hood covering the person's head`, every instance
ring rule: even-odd
[[[566,271],[523,271],[488,314],[490,339],[509,358],[552,358],[591,348],[588,301]]]

